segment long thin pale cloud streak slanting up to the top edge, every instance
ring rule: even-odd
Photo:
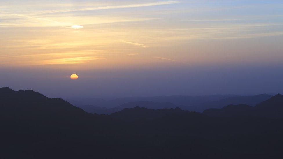
[[[56,12],[76,12],[76,11],[88,11],[88,10],[105,10],[105,9],[119,9],[119,8],[135,8],[135,7],[147,7],[147,6],[159,6],[166,4],[175,4],[180,3],[179,1],[158,1],[152,3],[139,3],[139,4],[128,4],[128,5],[119,5],[119,6],[102,6],[102,7],[89,7],[89,8],[80,8],[80,9],[68,9],[68,10],[54,10],[47,11],[42,13],[56,13]]]

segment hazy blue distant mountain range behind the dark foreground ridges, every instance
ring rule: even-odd
[[[271,98],[268,94],[259,94],[255,96],[231,96],[231,95],[213,95],[213,96],[156,96],[156,97],[129,97],[117,98],[115,100],[102,100],[95,98],[92,102],[97,101],[95,105],[80,105],[76,106],[84,109],[89,113],[111,114],[118,112],[124,108],[145,107],[150,109],[176,108],[180,107],[183,110],[203,112],[209,108],[222,108],[226,105],[247,104],[255,106],[256,104]],[[90,102],[87,100],[86,102]],[[125,103],[123,103],[125,102]],[[113,108],[107,108],[105,105],[117,105]],[[100,107],[102,105],[104,107]]]

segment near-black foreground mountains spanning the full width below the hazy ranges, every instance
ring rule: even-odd
[[[119,112],[98,115],[59,98],[5,87],[1,158],[281,158],[282,103],[277,94],[254,107],[228,105],[204,113],[126,108],[136,105],[127,103]]]

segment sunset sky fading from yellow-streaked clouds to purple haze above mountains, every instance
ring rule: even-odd
[[[282,0],[1,0],[0,35],[0,87],[48,97],[283,93]]]

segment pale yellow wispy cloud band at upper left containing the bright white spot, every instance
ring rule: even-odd
[[[38,16],[0,12],[0,27],[64,27],[83,29],[84,25],[150,21],[159,18],[99,17],[88,16]],[[77,25],[80,24],[80,25]]]

